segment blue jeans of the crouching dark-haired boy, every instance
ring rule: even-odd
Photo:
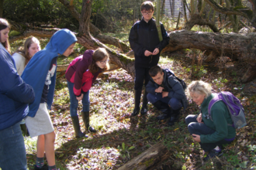
[[[164,104],[169,104],[173,110],[178,110],[182,108],[182,100],[176,98],[162,97],[162,93],[147,93],[147,100],[151,104],[156,103],[158,100],[161,100]]]

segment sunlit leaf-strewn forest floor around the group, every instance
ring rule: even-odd
[[[168,120],[157,121],[160,112],[148,104],[147,115],[130,117],[133,111],[133,77],[125,70],[103,73],[90,90],[90,121],[98,130],[88,138],[74,138],[69,114],[69,94],[64,76],[57,80],[54,105],[50,110],[56,133],[56,162],[61,169],[118,169],[161,141],[171,152],[170,158],[158,169],[254,169],[256,168],[256,81],[242,84],[243,63],[236,68],[220,71],[216,66],[195,66],[192,76],[192,59],[185,53],[164,53],[159,62],[189,84],[203,80],[213,90],[228,90],[242,102],[247,126],[237,130],[235,141],[224,148],[224,155],[209,162],[198,143],[194,143],[185,125],[188,114],[197,114],[199,108],[189,101],[181,111],[179,121],[169,127]],[[81,111],[81,104],[78,113]],[[80,116],[81,128],[84,124]],[[36,160],[36,138],[25,137],[29,169]]]

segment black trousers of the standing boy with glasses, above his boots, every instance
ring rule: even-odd
[[[135,67],[134,90],[142,90],[143,85],[145,87],[147,86],[147,83],[150,80],[149,70],[150,68]]]

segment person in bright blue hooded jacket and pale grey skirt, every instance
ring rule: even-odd
[[[22,73],[22,79],[31,85],[36,93],[35,100],[29,104],[29,114],[25,119],[30,137],[38,136],[35,169],[43,168],[44,152],[49,169],[56,169],[55,133],[47,109],[50,109],[54,100],[57,56],[69,56],[77,40],[74,33],[68,29],[55,32],[47,46],[29,60]]]

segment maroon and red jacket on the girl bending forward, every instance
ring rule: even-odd
[[[74,95],[81,96],[81,90],[87,92],[92,87],[101,69],[94,75],[88,70],[92,64],[93,50],[86,50],[83,56],[78,56],[69,64],[65,73],[66,79],[74,83]]]

